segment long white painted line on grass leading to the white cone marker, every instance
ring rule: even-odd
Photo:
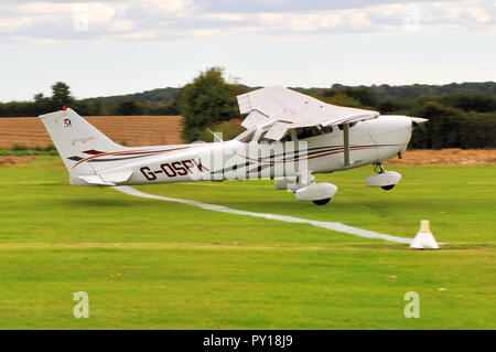
[[[197,206],[197,207],[214,211],[214,212],[255,216],[255,217],[263,217],[263,218],[269,218],[269,220],[283,221],[287,223],[310,224],[310,225],[313,225],[316,227],[327,228],[327,230],[332,230],[335,232],[341,232],[341,233],[345,233],[348,235],[355,235],[355,236],[365,237],[365,238],[380,238],[384,241],[407,243],[407,244],[410,244],[412,242],[411,238],[385,235],[385,234],[380,234],[380,233],[377,233],[374,231],[347,226],[342,223],[331,223],[331,222],[301,218],[301,217],[294,217],[294,216],[288,216],[288,215],[277,215],[277,214],[268,214],[268,213],[254,213],[254,212],[240,211],[240,210],[236,210],[236,209],[226,207],[223,205],[207,204],[207,203],[202,203],[202,202],[196,202],[196,201],[188,201],[188,200],[181,200],[181,199],[176,199],[176,198],[168,198],[168,196],[149,194],[149,193],[138,191],[137,189],[133,189],[132,186],[128,186],[128,185],[117,185],[117,186],[114,186],[114,189],[119,192],[129,194],[129,195],[136,195],[136,196],[141,196],[141,198],[147,198],[147,199],[152,199],[152,200],[160,200],[160,201],[168,201],[168,202],[176,202],[176,203]]]

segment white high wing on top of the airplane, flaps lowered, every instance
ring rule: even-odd
[[[273,140],[281,139],[291,128],[352,124],[379,116],[377,111],[326,104],[277,86],[246,93],[237,98],[240,113],[249,113],[241,126],[248,129],[272,125],[266,138]]]

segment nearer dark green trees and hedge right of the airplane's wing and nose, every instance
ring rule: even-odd
[[[326,103],[377,110],[384,115],[428,118],[412,134],[412,149],[495,148],[496,95],[466,92],[419,95],[417,98],[379,98],[367,87],[332,87],[315,95]]]

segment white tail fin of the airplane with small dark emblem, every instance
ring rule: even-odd
[[[105,171],[105,167],[84,162],[85,160],[127,149],[111,141],[73,109],[41,115],[40,118],[69,171],[72,181],[79,175],[95,175]]]

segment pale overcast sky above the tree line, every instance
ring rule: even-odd
[[[0,100],[56,81],[77,98],[230,82],[496,81],[496,2],[403,0],[2,0]]]

